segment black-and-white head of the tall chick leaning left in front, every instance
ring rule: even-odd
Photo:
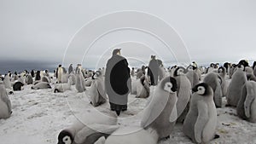
[[[161,81],[161,88],[168,93],[175,93],[177,91],[177,81],[175,78],[166,77]]]

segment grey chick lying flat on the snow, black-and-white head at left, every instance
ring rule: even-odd
[[[67,129],[58,135],[58,144],[94,144],[101,136],[108,136],[117,130],[116,115],[101,112],[85,112],[83,118],[75,119]]]

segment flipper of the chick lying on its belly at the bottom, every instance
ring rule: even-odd
[[[111,135],[113,131],[119,129],[118,125],[107,125],[107,124],[90,124],[88,126],[84,126],[82,130],[79,130],[79,132],[75,135],[74,141],[76,143],[87,143],[88,138],[90,135],[96,135],[94,138],[90,138],[90,141],[88,143],[93,143],[98,140],[99,137],[102,135]],[[85,142],[86,141],[86,142]]]

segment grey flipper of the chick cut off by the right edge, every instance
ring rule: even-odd
[[[255,92],[253,89],[253,84],[248,82],[246,84],[246,87],[247,87],[247,97],[244,101],[244,110],[245,110],[245,115],[247,118],[250,118],[251,117],[251,105],[252,105],[252,102],[253,100],[255,99]]]

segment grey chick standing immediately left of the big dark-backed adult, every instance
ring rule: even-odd
[[[92,76],[92,84],[89,89],[90,103],[98,107],[107,101],[107,94],[104,86],[104,78],[101,71],[96,71]]]

